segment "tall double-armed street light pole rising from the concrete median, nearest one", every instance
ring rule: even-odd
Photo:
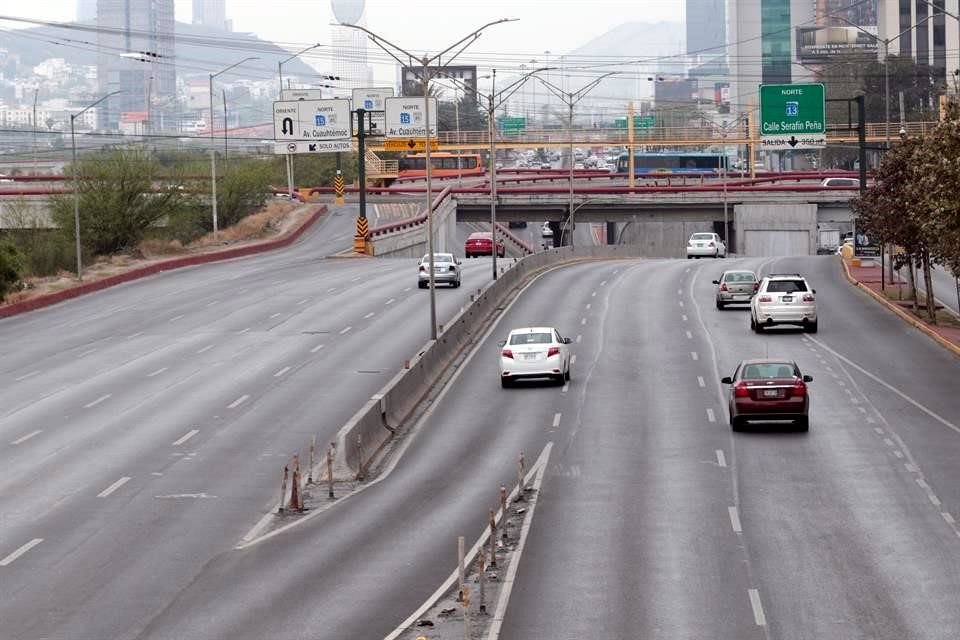
[[[425,126],[427,130],[427,135],[426,135],[427,143],[425,148],[425,151],[426,151],[425,169],[426,169],[426,178],[427,178],[427,202],[426,202],[426,205],[427,205],[427,211],[426,211],[427,260],[428,260],[428,268],[430,269],[429,288],[430,288],[430,339],[431,340],[437,339],[437,300],[436,300],[436,287],[434,286],[434,277],[433,277],[434,276],[433,274],[433,192],[431,190],[431,184],[432,184],[431,179],[432,179],[433,172],[431,171],[431,167],[430,167],[430,140],[431,140],[431,136],[430,136],[430,133],[431,133],[430,131],[430,65],[432,65],[435,62],[439,62],[441,58],[453,52],[450,55],[450,57],[447,58],[446,62],[443,65],[440,65],[440,68],[442,69],[448,66],[450,63],[454,61],[454,59],[456,59],[457,56],[463,53],[463,51],[468,46],[473,44],[473,42],[475,42],[477,38],[480,37],[484,29],[486,29],[487,27],[492,27],[493,25],[501,24],[503,22],[513,22],[513,21],[514,20],[511,18],[502,18],[500,20],[494,20],[493,22],[488,22],[487,24],[483,25],[479,29],[476,29],[475,31],[461,38],[460,40],[454,42],[452,45],[450,45],[440,53],[437,53],[433,56],[429,56],[429,57],[423,56],[420,58],[406,51],[405,49],[398,47],[392,42],[385,40],[384,38],[381,38],[380,36],[375,34],[373,31],[370,31],[369,29],[367,29],[366,27],[362,27],[356,24],[337,25],[337,26],[348,28],[348,29],[356,29],[358,31],[363,31],[370,37],[370,39],[373,41],[375,45],[383,49],[383,51],[386,52],[387,55],[389,55],[394,60],[399,62],[402,66],[413,67],[414,62],[418,62],[421,67],[421,73],[422,73],[421,80],[423,82],[423,104],[424,104],[423,115],[426,119]],[[459,48],[459,50],[454,51],[454,49],[457,49],[457,48]],[[400,58],[397,55],[397,53],[403,56],[406,56],[407,58],[406,62],[404,62],[404,60]],[[363,162],[363,158],[360,158],[359,161]],[[494,235],[494,240],[496,240],[496,235]],[[496,242],[494,242],[493,253],[494,254],[497,253]]]

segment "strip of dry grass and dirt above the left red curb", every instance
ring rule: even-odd
[[[257,213],[243,218],[232,227],[221,230],[217,234],[216,241],[212,233],[191,242],[186,247],[176,240],[145,240],[126,253],[98,256],[93,264],[84,267],[83,280],[94,282],[174,257],[214,253],[227,248],[272,240],[296,229],[314,209],[315,205],[269,202]],[[78,283],[76,274],[61,271],[55,276],[28,278],[25,284],[26,289],[9,293],[0,306],[63,291]]]

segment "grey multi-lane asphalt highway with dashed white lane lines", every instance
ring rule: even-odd
[[[413,260],[321,259],[350,225],[0,321],[4,640],[382,638],[548,442],[503,638],[960,630],[960,361],[833,256],[549,271],[382,481],[235,550],[289,454],[426,339]],[[734,265],[805,273],[820,332],[717,311],[709,281]],[[489,277],[464,266],[442,318]],[[572,381],[501,389],[497,341],[540,324],[573,339]],[[809,434],[730,432],[718,379],[767,354],[814,376]]]

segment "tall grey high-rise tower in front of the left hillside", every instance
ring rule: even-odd
[[[152,131],[173,128],[174,0],[98,0],[97,85],[100,95],[122,91],[97,109],[99,128],[132,118]]]

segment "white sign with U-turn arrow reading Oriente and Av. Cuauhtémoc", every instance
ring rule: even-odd
[[[273,136],[288,140],[349,140],[350,101],[281,100],[273,103]]]

